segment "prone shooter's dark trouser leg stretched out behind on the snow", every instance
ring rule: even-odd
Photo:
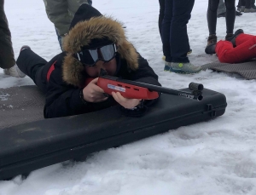
[[[28,77],[31,77],[33,82],[41,89],[44,93],[47,88],[46,75],[44,66],[48,62],[34,53],[31,49],[24,49],[20,52],[20,55],[16,61],[20,71],[24,72]]]

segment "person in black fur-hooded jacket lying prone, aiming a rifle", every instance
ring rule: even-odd
[[[63,45],[64,52],[47,62],[28,46],[20,49],[17,65],[45,95],[44,118],[94,112],[119,103],[127,115],[146,111],[138,99],[110,97],[96,85],[101,70],[108,75],[159,85],[158,76],[125,38],[122,25],[88,4],[76,12]]]

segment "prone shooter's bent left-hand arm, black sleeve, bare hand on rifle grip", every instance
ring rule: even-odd
[[[44,106],[44,118],[60,118],[102,110],[115,103],[103,95],[103,90],[92,80],[84,89],[79,89],[62,80],[61,60],[50,74]],[[99,91],[100,90],[100,91]],[[90,97],[93,98],[91,99]],[[89,97],[89,98],[88,98]]]

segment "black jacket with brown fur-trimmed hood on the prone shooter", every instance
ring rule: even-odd
[[[116,104],[112,97],[101,103],[84,104],[79,95],[88,77],[84,74],[84,65],[75,54],[81,48],[96,47],[106,39],[118,47],[116,55],[118,71],[115,77],[160,85],[157,75],[148,66],[148,61],[143,59],[126,39],[122,24],[102,16],[98,10],[83,4],[75,14],[71,30],[65,37],[63,43],[65,52],[56,55],[44,67],[46,75],[49,66],[55,62],[55,70],[51,72],[47,84],[45,118],[94,112]]]

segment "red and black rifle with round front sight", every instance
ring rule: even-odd
[[[136,81],[125,80],[119,77],[102,75],[99,77],[97,85],[108,95],[111,92],[119,92],[125,98],[154,100],[159,97],[159,92],[168,95],[179,95],[192,100],[202,100],[202,90],[204,86],[201,83],[189,83],[191,92],[169,89],[154,84],[140,83]]]

